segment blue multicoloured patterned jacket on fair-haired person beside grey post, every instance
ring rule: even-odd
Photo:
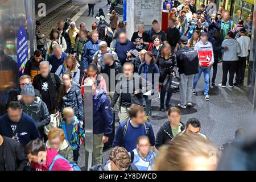
[[[80,147],[80,138],[84,140],[85,138],[85,133],[84,130],[82,129],[82,124],[79,122],[77,117],[75,116],[73,118],[73,130],[72,130],[72,140],[69,141],[69,144],[71,145],[73,150],[76,150],[77,148]],[[68,135],[67,135],[67,130],[66,130],[66,123],[65,121],[61,121],[60,123],[60,128],[63,129],[65,132],[65,138],[68,140]]]

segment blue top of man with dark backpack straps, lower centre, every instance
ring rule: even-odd
[[[139,127],[134,127],[131,125],[129,121],[127,121],[127,130],[126,134],[123,137],[123,130],[125,127],[126,122],[122,122],[118,128],[117,131],[115,131],[115,137],[112,144],[112,147],[125,147],[128,152],[134,150],[134,148],[137,148],[137,140],[141,136],[147,136],[147,131],[144,125],[141,125]],[[148,138],[150,139],[151,146],[155,146],[155,134],[152,129],[152,125],[147,122],[147,125],[149,127],[148,129]]]

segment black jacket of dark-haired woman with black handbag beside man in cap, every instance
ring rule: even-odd
[[[160,71],[159,82],[163,83],[167,75],[177,71],[176,54],[172,52],[172,55],[168,60],[166,60],[161,55],[158,55],[156,58],[156,64],[158,65]]]

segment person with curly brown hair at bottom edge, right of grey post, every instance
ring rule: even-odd
[[[138,171],[131,163],[127,150],[123,147],[114,147],[109,154],[109,160],[104,164],[90,168],[90,171]]]

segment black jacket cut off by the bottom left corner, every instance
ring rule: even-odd
[[[22,145],[7,137],[3,137],[3,159],[6,171],[22,171],[28,163]]]

